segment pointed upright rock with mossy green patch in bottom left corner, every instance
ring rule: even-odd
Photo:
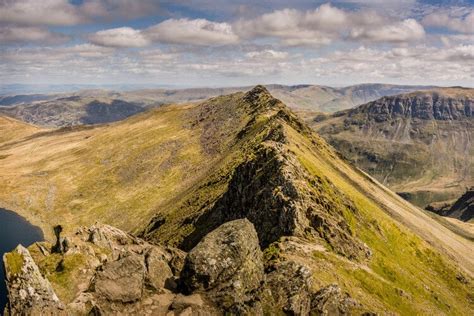
[[[18,245],[3,256],[8,288],[9,315],[63,315],[59,301],[49,281],[41,272],[28,249]]]

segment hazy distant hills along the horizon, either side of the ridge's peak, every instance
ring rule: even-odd
[[[422,86],[363,84],[345,88],[312,85],[268,85],[269,91],[299,110],[333,112],[375,100],[380,96],[419,90]],[[196,102],[250,87],[142,89],[135,91],[81,90],[61,95],[35,94],[0,97],[0,113],[43,126],[113,122],[149,106]],[[44,101],[44,102],[41,102]]]

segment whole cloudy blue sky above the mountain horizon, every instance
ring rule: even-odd
[[[474,87],[474,0],[0,0],[1,84]]]

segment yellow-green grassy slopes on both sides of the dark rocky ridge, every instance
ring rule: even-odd
[[[173,242],[191,232],[192,221],[186,219],[226,189],[232,170],[252,154],[247,149],[268,132],[275,111],[251,121],[241,96],[3,145],[0,155],[11,156],[0,165],[5,188],[0,200],[27,218],[41,218],[43,228],[101,221],[137,231],[158,214],[166,218],[159,237]],[[330,250],[300,258],[313,269],[316,288],[337,282],[376,311],[472,312],[472,280],[458,281],[455,266],[458,262],[465,275],[474,273],[471,241],[351,168],[317,135],[278,120],[289,138],[285,146],[308,173],[333,183],[354,202],[358,215],[347,213],[346,220],[373,252],[367,262]],[[250,126],[247,136],[236,137],[244,126]]]

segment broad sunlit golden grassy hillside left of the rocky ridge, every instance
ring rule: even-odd
[[[195,112],[167,107],[4,145],[0,200],[46,227],[100,220],[134,230],[199,181],[221,156],[227,134],[245,124],[242,117],[232,120],[238,114],[231,111],[212,125]]]

